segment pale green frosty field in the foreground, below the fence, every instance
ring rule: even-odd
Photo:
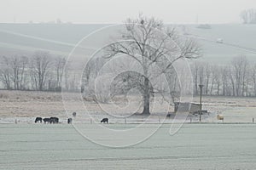
[[[90,124],[83,126],[94,132]],[[170,126],[163,125],[141,144],[113,149],[84,139],[72,125],[0,124],[0,169],[241,170],[256,167],[256,124],[184,124],[173,136],[168,133]]]

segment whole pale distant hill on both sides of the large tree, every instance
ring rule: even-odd
[[[32,54],[40,49],[67,56],[83,37],[104,26],[108,25],[0,24],[0,55]],[[177,28],[184,36],[198,39],[203,49],[202,60],[224,64],[234,56],[245,54],[256,61],[256,25]]]

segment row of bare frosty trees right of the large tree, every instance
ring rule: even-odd
[[[256,63],[249,63],[246,56],[234,57],[228,65],[195,61],[192,72],[194,94],[199,94],[198,85],[202,83],[206,95],[256,96]]]

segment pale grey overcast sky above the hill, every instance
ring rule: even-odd
[[[0,22],[120,23],[139,13],[165,23],[239,23],[256,0],[1,0]]]

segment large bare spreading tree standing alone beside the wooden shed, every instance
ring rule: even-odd
[[[136,80],[127,84],[140,87],[143,94],[142,114],[149,115],[150,94],[154,93],[149,80],[159,77],[154,68],[158,66],[160,73],[168,74],[172,72],[172,65],[177,59],[199,57],[200,48],[194,40],[181,37],[175,29],[166,28],[161,20],[143,15],[135,20],[128,19],[125,30],[120,31],[120,37],[124,42],[113,42],[109,45],[108,58],[125,54],[143,68],[143,74],[138,76],[134,73]],[[129,82],[127,78],[132,77],[131,72],[129,74],[126,77],[123,75],[125,82]]]

